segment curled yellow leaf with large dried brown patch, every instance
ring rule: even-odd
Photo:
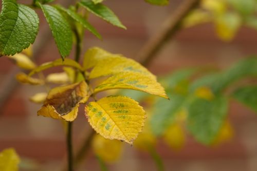
[[[53,119],[74,121],[78,115],[80,103],[88,99],[88,86],[83,81],[76,84],[53,88],[38,115]]]

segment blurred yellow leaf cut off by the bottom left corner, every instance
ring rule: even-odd
[[[17,171],[20,158],[13,148],[4,149],[0,153],[0,170]]]

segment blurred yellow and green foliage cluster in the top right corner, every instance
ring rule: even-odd
[[[184,27],[212,22],[223,41],[231,41],[241,26],[256,29],[255,0],[202,0],[183,20]]]

